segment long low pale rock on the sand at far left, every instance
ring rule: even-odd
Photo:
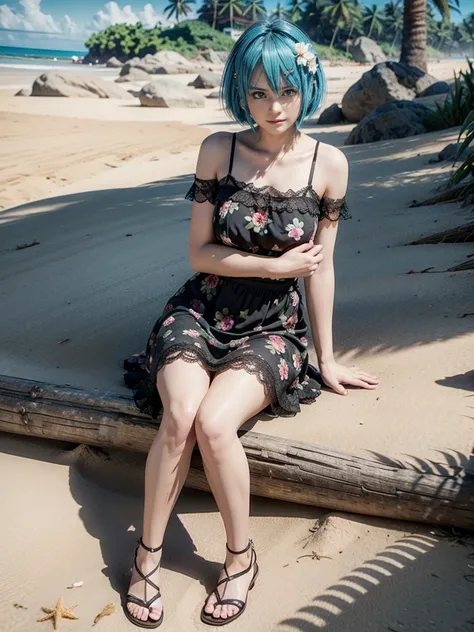
[[[33,97],[89,97],[96,99],[131,99],[132,96],[112,81],[49,71],[35,79]]]

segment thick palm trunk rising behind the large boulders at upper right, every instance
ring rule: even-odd
[[[426,0],[405,0],[400,61],[427,72]]]

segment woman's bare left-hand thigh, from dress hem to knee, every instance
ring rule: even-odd
[[[185,433],[206,396],[210,374],[199,362],[176,359],[165,364],[156,376],[156,387],[163,404],[163,421]]]

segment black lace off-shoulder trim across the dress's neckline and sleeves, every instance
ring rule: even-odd
[[[229,191],[229,187],[231,190]],[[232,190],[235,188],[236,190]],[[320,219],[338,221],[350,219],[346,198],[321,198],[311,184],[294,191],[279,191],[271,185],[255,186],[253,182],[236,180],[232,174],[227,174],[220,180],[203,179],[194,176],[194,182],[186,193],[187,200],[197,202],[225,202],[232,195],[232,200],[247,207],[267,208],[283,213],[309,213]]]

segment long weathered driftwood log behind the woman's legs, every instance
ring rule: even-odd
[[[158,421],[131,397],[0,376],[0,430],[102,448],[148,451]],[[474,529],[474,473],[445,463],[370,460],[242,432],[251,492],[334,510]],[[199,451],[186,481],[208,490]]]

